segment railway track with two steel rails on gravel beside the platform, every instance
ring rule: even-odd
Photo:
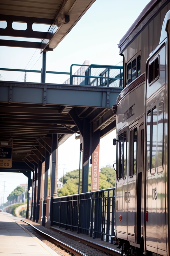
[[[89,255],[87,255],[87,254],[85,254],[85,253],[83,253],[83,252],[77,250],[76,248],[70,246],[69,244],[64,243],[64,242],[62,242],[62,241],[60,241],[60,240],[58,240],[58,239],[56,239],[56,238],[50,236],[49,234],[47,234],[47,233],[45,233],[45,232],[39,230],[38,228],[36,228],[34,225],[30,224],[29,222],[27,222],[27,221],[25,221],[25,220],[22,220],[22,221],[25,222],[26,224],[28,224],[29,226],[31,226],[31,228],[33,228],[39,235],[41,235],[42,237],[44,237],[44,238],[50,240],[52,243],[55,243],[55,244],[57,244],[58,246],[64,248],[65,250],[67,250],[67,251],[69,251],[69,252],[71,252],[71,253],[73,253],[73,254],[75,254],[75,255],[77,255],[77,256],[89,256]],[[75,238],[72,237],[72,239],[75,239]],[[82,239],[81,239],[81,240],[82,240]],[[85,240],[84,240],[84,242],[83,242],[83,241],[81,241],[81,242],[87,244],[87,242],[86,242]],[[107,253],[107,254],[109,253],[109,254],[114,255],[114,256],[120,256],[120,255],[121,255],[121,253],[118,252],[118,251],[114,251],[114,250],[109,250],[109,251],[108,251],[108,250],[107,250],[108,248],[107,248],[107,247],[104,247],[104,246],[94,246],[94,243],[91,243],[91,244],[90,244],[90,242],[88,243],[88,245],[89,245],[90,247],[93,247],[93,248],[95,248],[95,249],[98,249],[98,250],[100,250],[100,251],[103,251],[104,253]]]

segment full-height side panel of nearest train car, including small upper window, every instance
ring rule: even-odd
[[[147,63],[146,84],[146,249],[167,255],[164,150],[165,44]]]

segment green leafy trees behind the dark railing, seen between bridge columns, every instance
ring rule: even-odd
[[[109,167],[105,167],[109,168]],[[103,168],[104,169],[104,168]],[[110,175],[115,175],[115,171],[110,167],[112,172]],[[107,170],[103,170],[103,172]],[[112,177],[110,177],[111,179]],[[105,188],[113,187],[112,183],[109,182],[109,175],[105,175],[104,173],[99,173],[99,190]],[[62,188],[57,189],[58,196],[68,196],[78,194],[78,185],[79,185],[79,169],[68,172],[64,175],[64,178],[60,178],[60,182],[64,181],[64,185]],[[112,179],[111,179],[112,180]],[[80,193],[81,193],[81,184],[82,184],[82,170],[80,170]],[[114,182],[115,184],[115,182]],[[89,179],[88,179],[88,191],[91,191],[91,167],[89,168]]]

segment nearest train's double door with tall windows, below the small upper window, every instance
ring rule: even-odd
[[[147,109],[146,148],[146,245],[161,255],[166,251],[163,102],[164,97]]]

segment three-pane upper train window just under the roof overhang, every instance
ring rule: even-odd
[[[139,58],[140,58],[140,65],[139,65]],[[135,78],[132,80],[132,63],[136,62],[136,75]],[[131,65],[131,77],[129,77],[129,66]],[[140,67],[140,70],[139,70]],[[139,73],[139,74],[138,74]],[[141,54],[136,54],[135,58],[131,59],[128,63],[126,63],[126,86],[128,86],[132,81],[134,81],[137,77],[141,75]]]

